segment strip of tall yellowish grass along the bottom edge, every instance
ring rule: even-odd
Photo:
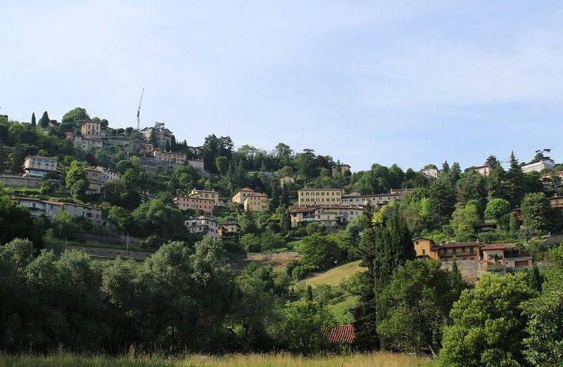
[[[107,356],[81,356],[76,354],[55,354],[51,356],[6,356],[0,355],[0,366],[42,367],[42,366],[84,366],[84,367],[426,367],[429,359],[406,354],[374,353],[348,354],[342,356],[303,357],[290,354],[231,354],[228,356],[191,355],[182,358],[160,356],[138,356],[111,358]]]

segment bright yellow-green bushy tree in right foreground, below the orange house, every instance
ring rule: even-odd
[[[535,292],[526,276],[486,273],[475,288],[464,290],[443,331],[442,366],[519,366],[524,358],[525,318],[519,304]]]

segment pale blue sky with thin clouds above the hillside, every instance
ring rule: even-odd
[[[0,113],[420,169],[563,160],[561,1],[0,1]]]

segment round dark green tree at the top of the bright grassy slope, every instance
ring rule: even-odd
[[[317,233],[303,238],[301,254],[301,264],[308,270],[327,269],[343,259],[338,243]]]

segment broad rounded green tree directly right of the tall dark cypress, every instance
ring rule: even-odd
[[[422,354],[423,348],[433,355],[438,352],[442,328],[460,295],[452,288],[452,274],[440,267],[434,260],[407,261],[379,294],[386,313],[377,324],[377,333],[387,340],[390,349],[416,354]]]

